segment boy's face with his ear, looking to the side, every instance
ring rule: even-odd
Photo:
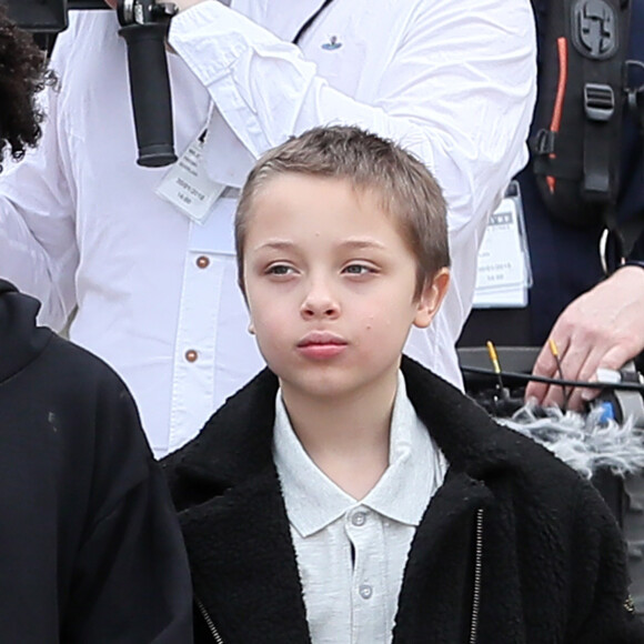
[[[316,396],[395,383],[411,325],[431,322],[449,280],[414,301],[415,258],[379,200],[294,173],[255,195],[243,269],[264,359],[284,393]]]

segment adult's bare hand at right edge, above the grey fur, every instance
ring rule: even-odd
[[[644,269],[624,266],[574,300],[555,322],[551,339],[559,350],[566,380],[593,380],[598,368],[620,369],[644,350]],[[543,346],[533,373],[559,378],[549,343]],[[574,389],[568,409],[580,410],[596,390]],[[531,382],[526,399],[542,405],[563,405],[561,386]]]

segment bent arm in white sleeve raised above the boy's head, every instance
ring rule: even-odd
[[[386,38],[386,20],[368,34],[373,42]],[[175,17],[170,43],[253,157],[325,123],[402,143],[439,179],[452,243],[461,230],[481,231],[527,159],[536,68],[526,0],[419,1],[369,103],[332,88],[298,47],[217,1]]]

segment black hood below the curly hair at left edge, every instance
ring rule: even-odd
[[[0,383],[24,369],[47,346],[52,332],[36,325],[38,300],[0,280]]]

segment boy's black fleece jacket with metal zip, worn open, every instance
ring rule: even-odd
[[[644,642],[627,603],[621,534],[595,490],[424,368],[404,359],[403,373],[450,469],[412,543],[393,642]],[[224,644],[310,642],[272,459],[276,388],[262,372],[162,462],[188,547],[199,643],[217,641],[213,630]]]

